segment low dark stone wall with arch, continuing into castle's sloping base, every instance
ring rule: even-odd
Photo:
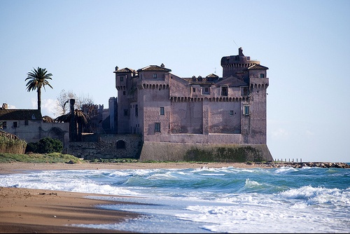
[[[86,160],[134,158],[141,162],[272,162],[265,144],[185,144],[144,142],[140,135],[87,135],[83,142],[69,142],[63,153]]]

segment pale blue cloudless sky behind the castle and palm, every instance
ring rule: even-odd
[[[221,57],[239,47],[269,68],[272,156],[350,162],[349,0],[0,0],[0,102],[36,109],[25,78],[41,67],[53,87],[43,116],[57,117],[62,90],[106,109],[116,66],[222,76]]]

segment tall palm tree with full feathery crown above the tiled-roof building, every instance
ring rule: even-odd
[[[47,73],[46,69],[42,69],[38,67],[37,69],[31,70],[27,74],[27,78],[25,81],[29,80],[27,83],[27,90],[28,92],[32,90],[36,90],[38,92],[38,110],[41,111],[41,88],[43,87],[45,90],[45,85],[52,86],[50,83],[48,83],[48,80],[52,80],[51,76],[52,74]]]

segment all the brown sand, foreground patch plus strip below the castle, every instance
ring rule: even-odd
[[[124,170],[201,167],[267,167],[246,163],[0,163],[0,174],[27,170]],[[98,209],[111,201],[85,198],[85,193],[0,187],[0,233],[125,233],[78,228],[74,223],[117,223],[138,214]]]

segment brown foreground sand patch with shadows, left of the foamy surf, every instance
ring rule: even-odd
[[[139,216],[132,212],[99,209],[97,205],[120,202],[85,198],[87,195],[94,194],[0,187],[0,233],[130,233],[71,226],[118,223]]]

